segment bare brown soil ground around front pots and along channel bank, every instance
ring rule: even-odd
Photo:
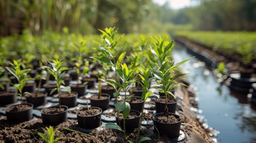
[[[178,90],[175,95],[181,100],[178,104],[179,110],[177,114],[183,118],[181,125],[181,135],[176,139],[169,139],[166,136],[158,136],[158,133],[153,132],[153,126],[147,124],[144,125],[140,136],[148,136],[151,141],[148,142],[212,142],[212,138],[208,135],[214,130],[204,129],[202,123],[198,121],[197,115],[191,109],[195,109],[195,98],[193,92],[187,91],[187,89]],[[192,107],[193,105],[193,107]],[[39,111],[39,110],[38,110]],[[151,111],[153,113],[153,110]],[[69,112],[69,114],[72,111]],[[34,114],[35,115],[35,114]],[[90,136],[83,135],[78,132],[72,132],[63,128],[69,128],[77,131],[81,131],[78,127],[76,119],[72,119],[73,116],[68,116],[66,122],[61,123],[58,126],[54,126],[57,129],[55,136],[62,136],[58,142],[124,142],[124,135],[119,130],[104,129],[102,126],[93,130],[82,130],[88,132]],[[145,117],[144,119],[149,119]],[[104,125],[104,122],[102,122]],[[42,124],[42,119],[39,117],[33,117],[29,122],[23,122],[20,124],[10,124],[7,122],[6,117],[1,115],[0,117],[0,142],[44,142],[37,132],[44,132],[45,125]],[[136,132],[128,133],[128,139],[135,141]]]

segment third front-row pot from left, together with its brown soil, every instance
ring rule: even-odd
[[[101,108],[82,108],[76,112],[78,126],[82,129],[94,129],[101,125]]]

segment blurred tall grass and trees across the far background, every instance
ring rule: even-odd
[[[0,0],[0,35],[44,30],[91,34],[118,27],[120,33],[174,30],[256,30],[255,0],[191,0],[172,10],[152,0]]]

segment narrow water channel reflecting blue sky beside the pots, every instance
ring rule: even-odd
[[[186,48],[175,43],[172,57],[178,63],[193,57]],[[187,80],[195,85],[201,115],[209,126],[218,130],[218,142],[256,142],[256,106],[248,101],[246,94],[230,91],[217,82],[202,61],[193,58],[180,66]]]

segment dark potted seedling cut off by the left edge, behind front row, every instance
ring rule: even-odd
[[[0,105],[7,105],[17,101],[16,92],[9,91],[10,79],[4,73],[4,68],[0,67]]]

